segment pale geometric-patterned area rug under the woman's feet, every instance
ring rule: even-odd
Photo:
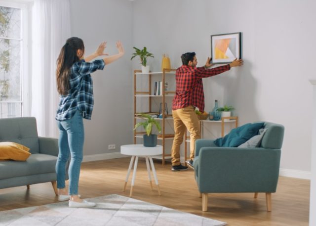
[[[0,226],[223,226],[224,222],[117,194],[86,199],[93,208],[68,202],[0,212]]]

